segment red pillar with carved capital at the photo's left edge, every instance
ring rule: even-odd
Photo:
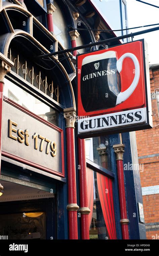
[[[10,72],[14,63],[0,53],[0,172],[1,172],[1,141],[2,141],[2,112],[3,112],[3,85],[4,76]]]

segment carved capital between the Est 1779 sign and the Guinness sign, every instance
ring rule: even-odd
[[[74,128],[76,110],[74,107],[64,108],[64,118],[66,120],[66,128]]]

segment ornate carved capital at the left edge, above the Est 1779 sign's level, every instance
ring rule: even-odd
[[[9,60],[5,55],[0,53],[0,82],[4,83],[4,76],[10,72],[11,67],[14,66],[14,63]]]

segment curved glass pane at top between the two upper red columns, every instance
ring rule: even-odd
[[[64,15],[61,12],[58,4],[54,1],[54,6],[56,7],[55,12],[53,13],[54,21],[54,34],[57,37],[58,41],[68,49],[68,38],[69,34],[67,32],[67,23],[64,19]]]

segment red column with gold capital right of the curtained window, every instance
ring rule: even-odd
[[[118,189],[119,189],[119,203],[120,203],[120,224],[123,239],[129,239],[127,211],[126,211],[126,197],[125,197],[125,185],[124,185],[124,170],[123,170],[123,153],[124,145],[113,145],[113,149],[116,153],[117,175],[118,175]]]

